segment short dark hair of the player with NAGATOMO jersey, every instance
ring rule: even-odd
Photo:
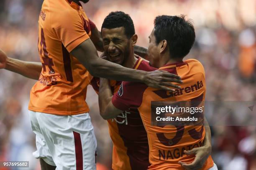
[[[195,42],[192,20],[181,16],[157,16],[154,20],[156,44],[166,40],[172,57],[185,57]]]

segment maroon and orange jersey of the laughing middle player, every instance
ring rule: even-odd
[[[147,61],[138,58],[133,67],[153,71]],[[99,92],[100,79],[92,77],[90,84]],[[110,80],[112,92],[117,92],[121,82]],[[148,162],[148,138],[137,108],[129,108],[115,119],[108,120],[110,138],[113,141],[113,170],[146,170]]]

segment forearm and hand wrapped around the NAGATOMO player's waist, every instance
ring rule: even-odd
[[[200,170],[212,152],[211,130],[206,118],[204,119],[204,126],[205,139],[202,147],[184,151],[187,155],[195,155],[195,160],[189,164],[179,162],[185,170]]]

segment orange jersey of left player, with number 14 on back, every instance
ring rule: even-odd
[[[30,93],[29,110],[55,115],[89,112],[85,102],[89,72],[70,54],[95,25],[81,4],[44,0],[38,20],[38,52],[43,69]]]

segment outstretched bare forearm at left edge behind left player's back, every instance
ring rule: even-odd
[[[7,57],[5,52],[0,49],[0,68],[38,80],[42,70],[42,64],[41,62],[27,62]]]

